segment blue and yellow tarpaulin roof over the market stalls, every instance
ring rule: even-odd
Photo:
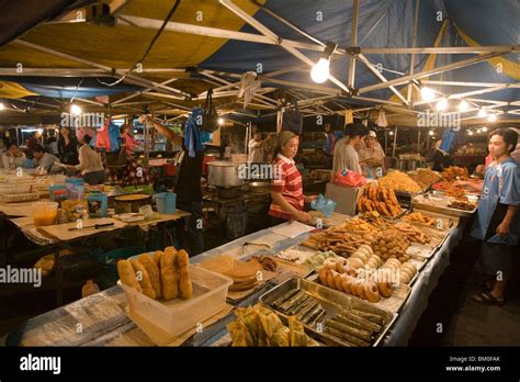
[[[253,16],[256,21],[272,31],[281,41],[289,40],[315,44],[303,36],[302,33],[290,27],[284,21],[260,10],[259,4],[263,4],[283,20],[297,25],[297,27],[320,42],[330,41],[338,44],[340,48],[349,48],[351,45],[352,13],[354,11],[353,1],[351,0],[267,0],[257,3],[248,0],[233,0],[233,3],[239,7],[246,16]],[[374,53],[370,49],[412,47],[414,14],[417,3],[412,0],[360,1],[355,45],[361,47],[361,53],[373,66],[381,70],[386,80],[396,80],[408,75],[412,61],[411,55],[396,52]],[[0,48],[0,68],[12,68],[12,76],[19,76],[15,72],[19,63],[24,68],[95,69],[98,72],[92,72],[91,76],[99,76],[100,78],[103,77],[102,74],[104,76],[109,75],[112,68],[120,69],[118,72],[112,72],[114,75],[112,81],[114,81],[124,75],[125,69],[132,68],[138,63],[173,4],[174,1],[161,0],[127,1],[118,11],[118,15],[121,18],[145,18],[146,22],[140,24],[134,22],[127,25],[116,24],[114,26],[91,22],[42,23],[19,37],[19,41],[23,43],[12,41]],[[518,48],[520,7],[517,0],[421,0],[419,4],[417,47],[516,45]],[[0,3],[0,8],[2,5],[3,2]],[[68,2],[67,7],[70,9],[72,7],[71,2]],[[56,10],[52,11],[56,13]],[[50,11],[47,13],[50,14]],[[21,14],[3,12],[2,14],[8,19],[22,16]],[[48,15],[42,18],[44,20]],[[148,19],[155,19],[158,24],[151,27]],[[143,63],[143,72],[134,71],[135,78],[128,76],[124,80],[126,83],[123,85],[122,82],[109,89],[97,80],[86,81],[84,89],[82,89],[83,87],[78,89],[78,91],[81,91],[80,97],[89,98],[100,93],[126,93],[132,90],[145,91],[147,88],[156,87],[155,85],[158,82],[170,79],[172,81],[168,83],[169,89],[165,86],[162,88],[156,87],[151,93],[144,93],[132,101],[146,102],[154,98],[154,100],[160,99],[165,102],[170,101],[170,103],[177,105],[191,108],[193,104],[201,103],[201,101],[190,101],[189,98],[167,100],[163,94],[168,94],[170,89],[177,89],[184,94],[196,96],[207,90],[207,88],[222,87],[228,82],[239,80],[239,78],[229,74],[240,75],[246,71],[256,71],[262,75],[263,87],[297,88],[293,82],[306,86],[314,85],[309,78],[309,67],[280,45],[236,40],[242,37],[242,35],[238,37],[229,35],[229,40],[226,38],[225,34],[218,37],[215,34],[210,36],[208,34],[212,34],[213,30],[208,30],[211,33],[206,35],[200,31],[194,31],[194,27],[210,27],[229,32],[239,31],[244,34],[260,36],[260,33],[247,24],[244,18],[234,14],[217,1],[181,1],[170,22],[190,24],[192,27],[189,29],[189,33],[165,30]],[[5,42],[10,37],[13,36],[3,32],[3,30],[0,32],[0,42]],[[369,50],[365,52],[364,49]],[[316,52],[316,49],[314,52],[312,49],[301,49],[299,52],[313,61],[316,61],[320,56],[320,52]],[[475,54],[419,53],[415,55],[412,71],[417,74],[475,56]],[[343,83],[348,82],[350,57],[348,54],[332,57],[331,75]],[[208,78],[205,77],[205,74],[183,71],[183,69],[190,67],[196,67],[199,71],[213,70],[208,74],[218,76],[218,78]],[[174,71],[173,69],[181,70]],[[270,72],[284,69],[291,70],[279,76],[265,77]],[[5,71],[2,71],[2,74],[5,75]],[[71,92],[74,93],[74,89],[70,88],[74,87],[71,82],[77,83],[78,79],[82,77],[76,76],[77,78],[68,82],[61,77],[52,77],[52,72],[47,75],[49,78],[46,78],[45,85],[38,83],[34,78],[8,77],[8,79],[11,82],[14,80],[20,83],[22,89],[18,89],[16,94],[21,97],[24,97],[22,94],[23,89],[25,89],[27,92],[32,91],[37,94],[68,98]],[[57,74],[57,76],[60,75]],[[71,74],[71,76],[75,75]],[[176,78],[177,80],[173,81]],[[203,78],[206,82],[202,80]],[[421,78],[423,81],[443,81],[442,85],[433,83],[430,87],[446,94],[466,93],[485,88],[455,86],[446,81],[511,83],[518,86],[519,79],[520,59],[518,53],[495,56],[479,64]],[[381,80],[372,70],[357,60],[354,88],[363,91],[363,88],[377,83],[381,83]],[[404,91],[407,83],[397,85],[397,90]],[[59,90],[60,87],[65,89]],[[331,81],[327,81],[323,87],[339,90]],[[512,102],[518,102],[520,99],[520,89],[518,87],[504,88],[501,90],[495,89],[493,92],[467,94],[465,97],[475,100],[504,101],[505,103],[500,106],[510,108]],[[0,98],[10,97],[9,91],[11,90],[9,89],[11,88],[4,87],[3,89],[2,94],[2,87],[0,86]],[[302,87],[302,89],[305,89],[305,87]],[[312,92],[312,89],[306,89],[306,91]],[[324,93],[318,92],[318,94]],[[338,94],[340,94],[340,91],[338,91]],[[370,90],[361,96],[372,100],[400,102],[388,87]],[[417,97],[417,94],[414,96],[414,98]],[[122,97],[113,96],[111,102]],[[342,104],[378,104],[378,102],[370,99],[352,99],[343,94],[343,97],[338,98],[338,101],[341,101]],[[233,100],[234,96],[223,94],[223,98],[217,102],[219,101],[221,104],[225,105],[233,103]],[[493,103],[486,102],[483,101],[482,104],[493,105]],[[509,105],[506,103],[509,103]],[[271,102],[271,105],[276,106],[275,102]],[[167,103],[162,106],[167,106]],[[234,106],[238,108],[237,104]],[[328,106],[332,108],[330,103]],[[519,109],[520,105],[516,106]],[[258,109],[257,106],[251,108]]]

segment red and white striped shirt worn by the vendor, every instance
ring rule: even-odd
[[[298,211],[303,211],[304,195],[302,175],[296,168],[294,160],[282,154],[279,154],[274,159],[274,177],[271,180],[271,191],[281,192],[282,196],[292,206]],[[280,205],[275,204],[274,201],[271,203],[269,214],[287,221],[294,218],[293,215],[285,212]]]

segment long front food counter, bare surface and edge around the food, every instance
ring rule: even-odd
[[[348,216],[334,214],[329,220],[332,225],[339,225]],[[426,310],[428,296],[437,285],[437,280],[449,265],[449,254],[462,236],[464,221],[455,222],[459,226],[450,228],[448,236],[434,250],[415,279],[410,293],[404,304],[397,310],[396,319],[388,327],[380,345],[406,345],[409,336]],[[192,263],[216,258],[222,255],[248,258],[253,255],[280,254],[297,246],[309,238],[313,227],[285,223],[276,227],[263,229],[241,237],[224,246],[214,248],[191,259]],[[305,232],[307,231],[307,232]],[[262,246],[268,245],[268,247]],[[272,279],[263,288],[247,299],[239,301],[236,306],[253,305],[260,296],[272,290],[276,284],[287,280],[287,276]],[[154,346],[149,336],[128,318],[127,299],[121,286],[114,286],[101,293],[79,300],[69,305],[29,319],[24,325],[12,332],[8,345],[19,346]],[[227,307],[231,310],[233,306]],[[204,330],[190,332],[182,338],[172,340],[173,345],[193,346],[227,346],[229,336],[226,325],[235,319],[235,315],[225,311],[217,318],[204,323]],[[81,333],[77,325],[81,323]]]

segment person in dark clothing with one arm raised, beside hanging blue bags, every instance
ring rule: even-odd
[[[191,256],[204,251],[204,237],[202,236],[202,161],[204,159],[203,150],[195,150],[194,156],[184,145],[184,137],[174,133],[167,126],[156,122],[151,115],[143,115],[142,119],[157,131],[157,133],[172,141],[177,146],[182,147],[178,158],[177,179],[174,192],[177,193],[177,207],[189,212],[188,232],[192,240]],[[184,130],[185,132],[185,130]],[[178,232],[179,233],[179,232]],[[180,233],[179,233],[180,234]]]

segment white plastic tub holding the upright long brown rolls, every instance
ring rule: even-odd
[[[135,258],[135,257],[134,257]],[[202,267],[189,266],[193,284],[190,300],[152,300],[117,282],[128,299],[129,307],[172,336],[180,336],[199,323],[217,314],[226,306],[227,289],[233,280]]]

